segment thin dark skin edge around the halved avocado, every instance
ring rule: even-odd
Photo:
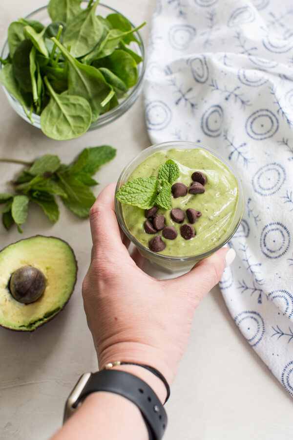
[[[13,243],[8,244],[7,246],[3,247],[3,248],[0,250],[0,254],[1,254],[2,251],[4,251],[6,248],[12,246],[13,244],[17,244],[17,243],[19,243],[19,242],[23,242],[23,241],[25,241],[25,240],[29,240],[29,239],[33,239],[33,238],[38,238],[38,237],[43,237],[43,238],[45,238],[45,239],[56,239],[56,240],[59,240],[60,242],[65,243],[66,246],[71,250],[71,252],[72,252],[72,256],[73,256],[73,258],[74,258],[74,264],[75,264],[75,267],[76,267],[76,271],[75,271],[75,280],[74,280],[74,283],[73,283],[73,285],[72,285],[71,292],[70,292],[70,294],[69,294],[67,300],[65,301],[65,303],[63,304],[62,307],[58,308],[56,311],[54,310],[52,315],[50,314],[50,316],[48,316],[47,318],[44,318],[44,319],[43,319],[38,325],[36,325],[35,327],[33,327],[33,328],[25,328],[25,327],[24,327],[24,328],[9,327],[9,326],[7,326],[7,325],[5,325],[5,324],[3,324],[3,323],[0,322],[0,327],[2,327],[3,329],[6,329],[6,330],[12,330],[12,331],[18,331],[18,332],[20,332],[20,331],[21,331],[21,332],[23,332],[23,331],[24,331],[24,332],[28,332],[28,331],[29,331],[29,332],[32,332],[32,331],[35,331],[36,329],[38,329],[39,327],[42,327],[42,326],[43,326],[44,324],[46,324],[47,322],[51,321],[55,316],[57,316],[57,315],[63,310],[63,308],[64,308],[64,307],[66,306],[66,304],[68,303],[68,301],[69,301],[69,299],[71,298],[71,295],[72,295],[72,293],[73,293],[73,291],[74,291],[74,287],[75,287],[75,285],[76,285],[76,281],[77,281],[78,264],[77,264],[77,259],[76,259],[76,256],[75,256],[75,253],[74,253],[72,247],[71,247],[71,246],[68,244],[68,242],[66,242],[65,240],[62,240],[62,239],[59,238],[59,237],[45,236],[45,235],[40,235],[40,234],[38,234],[38,235],[34,235],[34,236],[31,236],[31,237],[28,237],[27,239],[18,240],[17,242],[13,242]],[[8,282],[9,282],[9,280],[8,280]],[[29,305],[26,305],[26,306],[29,306]]]

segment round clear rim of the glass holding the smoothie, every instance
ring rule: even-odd
[[[182,147],[180,147],[180,145],[182,145]],[[121,183],[121,181],[123,180],[123,177],[125,176],[127,170],[129,168],[131,168],[131,166],[136,161],[138,161],[140,158],[142,158],[142,160],[140,160],[140,162],[139,162],[139,163],[141,163],[144,159],[146,159],[146,157],[148,157],[150,155],[148,153],[153,154],[157,150],[164,150],[164,149],[169,150],[170,148],[176,147],[176,146],[178,148],[188,148],[188,147],[191,147],[191,148],[202,148],[202,149],[208,151],[210,154],[214,155],[215,157],[217,157],[218,159],[220,159],[224,163],[224,165],[229,169],[229,171],[235,177],[236,182],[237,182],[237,186],[238,186],[238,201],[237,201],[236,210],[238,208],[238,203],[239,203],[240,214],[239,214],[239,216],[237,218],[233,219],[233,227],[232,227],[232,229],[230,231],[230,234],[228,236],[224,236],[224,240],[221,240],[215,247],[209,249],[207,252],[203,252],[203,253],[199,253],[199,254],[194,254],[194,255],[188,256],[188,257],[172,257],[172,256],[168,256],[168,255],[159,254],[157,252],[151,251],[150,249],[145,247],[142,243],[140,243],[128,231],[128,229],[127,229],[127,227],[125,225],[125,221],[123,219],[122,203],[116,198],[117,191],[119,190],[120,186],[124,183],[124,182]],[[167,262],[167,261],[172,261],[172,262],[188,262],[188,261],[190,261],[190,262],[192,262],[192,261],[195,261],[195,260],[202,260],[202,259],[204,259],[206,257],[209,257],[209,255],[213,254],[218,249],[223,247],[232,238],[232,236],[234,235],[234,233],[238,229],[238,226],[241,223],[241,220],[242,220],[242,217],[243,217],[243,214],[244,214],[244,206],[245,206],[245,204],[244,204],[244,191],[243,191],[241,180],[240,180],[239,176],[237,175],[237,173],[234,171],[233,167],[231,167],[231,165],[227,162],[225,157],[223,157],[221,154],[219,154],[215,150],[207,147],[206,145],[200,144],[198,142],[190,142],[190,141],[167,141],[167,142],[161,142],[159,144],[153,144],[150,147],[147,147],[145,150],[141,151],[135,157],[133,157],[130,160],[130,162],[128,162],[127,165],[124,167],[121,175],[118,178],[116,189],[115,189],[114,204],[115,204],[115,212],[116,212],[116,216],[117,216],[118,222],[119,222],[121,228],[123,229],[123,232],[126,234],[126,237],[128,237],[129,240],[131,242],[133,242],[139,249],[141,249],[147,255],[149,255],[149,257],[157,258],[157,259],[160,259],[160,260],[165,261],[165,262]]]

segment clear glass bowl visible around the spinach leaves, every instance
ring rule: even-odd
[[[87,1],[82,1],[81,7],[85,7],[87,5],[87,3],[88,3]],[[119,11],[116,11],[116,9],[113,9],[109,6],[106,6],[103,3],[98,4],[97,14],[105,17],[111,13],[121,14]],[[123,15],[123,14],[121,14],[121,15]],[[52,20],[49,17],[48,11],[47,11],[47,6],[42,6],[41,8],[39,8],[39,9],[33,11],[31,14],[27,15],[25,18],[29,19],[29,20],[37,20],[38,22],[41,22],[45,26],[47,26],[48,24],[50,24],[52,22]],[[131,25],[132,25],[132,27],[135,27],[133,23],[131,23]],[[130,109],[132,104],[134,104],[134,102],[137,100],[137,98],[142,90],[143,78],[144,78],[145,69],[146,69],[145,46],[144,46],[144,42],[143,42],[143,39],[142,39],[140,33],[137,31],[134,33],[134,35],[137,38],[137,40],[140,42],[140,44],[132,42],[131,43],[131,50],[133,50],[138,55],[140,55],[143,60],[140,64],[137,65],[137,73],[138,73],[137,83],[135,84],[135,86],[133,86],[128,91],[128,94],[125,98],[119,100],[119,105],[117,107],[115,107],[114,109],[107,111],[106,113],[99,116],[97,121],[93,122],[90,125],[90,127],[88,128],[88,131],[96,130],[100,127],[103,127],[104,125],[108,124],[109,122],[115,121],[117,118],[122,116],[128,109]],[[8,41],[6,40],[4,43],[4,46],[2,48],[0,56],[2,59],[5,59],[8,56],[8,54],[9,54],[9,47],[8,47]],[[1,69],[1,67],[2,67],[2,65],[0,63],[0,69]],[[29,118],[25,114],[19,101],[13,95],[11,95],[6,90],[6,88],[3,87],[3,89],[4,89],[4,92],[7,96],[7,99],[9,101],[9,104],[11,105],[11,107],[22,117],[22,119],[24,119],[29,124],[32,124],[32,122],[29,120]],[[32,113],[32,120],[34,122],[33,125],[40,129],[41,128],[40,116],[35,113]]]

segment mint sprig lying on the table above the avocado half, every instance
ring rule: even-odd
[[[22,232],[20,225],[27,218],[30,202],[39,205],[45,215],[56,222],[59,208],[55,195],[78,217],[87,218],[96,199],[89,187],[98,184],[92,176],[115,154],[114,148],[103,145],[85,148],[70,165],[62,164],[60,158],[52,154],[44,154],[33,163],[0,159],[0,162],[26,166],[16,180],[9,182],[14,192],[0,194],[0,204],[5,204],[0,210],[4,227],[9,229],[16,223]]]

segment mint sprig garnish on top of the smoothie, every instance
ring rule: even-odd
[[[138,177],[122,185],[116,194],[121,203],[150,209],[154,205],[171,209],[171,186],[179,177],[179,167],[172,159],[160,166],[158,177]]]

